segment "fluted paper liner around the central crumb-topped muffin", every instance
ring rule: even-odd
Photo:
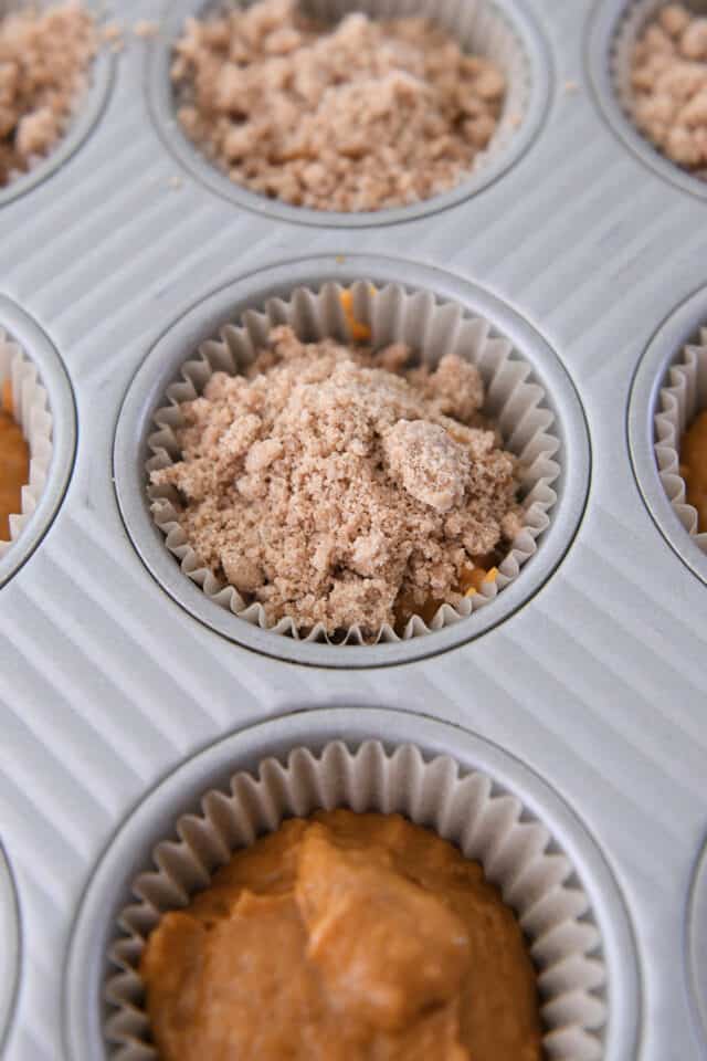
[[[177,518],[173,490],[149,484],[150,472],[167,468],[180,458],[175,434],[182,423],[179,403],[197,398],[214,371],[233,375],[251,364],[256,348],[266,344],[272,326],[288,324],[300,339],[308,342],[325,337],[351,342],[341,303],[344,290],[336,283],[326,283],[319,291],[297,287],[287,301],[271,298],[264,309],[246,311],[240,325],[224,324],[219,339],[201,344],[198,356],[182,365],[181,381],[167,389],[168,403],[154,416],[158,430],[148,439],[152,455],[146,464],[147,492],[152,517],[165,535],[167,548],[179,560],[184,576],[200,586],[214,603],[262,629],[306,641],[392,642],[401,639],[389,624],[383,624],[376,638],[368,640],[360,628],[354,626],[336,641],[327,635],[323,624],[306,635],[300,634],[291,618],[268,624],[262,605],[247,603],[233,586],[217,578],[191,548]],[[538,538],[549,526],[549,513],[557,501],[552,484],[560,474],[553,456],[560,442],[552,430],[555,414],[544,405],[545,390],[530,379],[530,365],[515,354],[508,339],[494,333],[488,321],[466,316],[456,304],[437,302],[431,293],[409,293],[397,284],[377,290],[370,282],[357,281],[350,291],[356,318],[370,328],[374,347],[405,342],[424,364],[436,364],[444,354],[453,353],[476,365],[486,390],[484,412],[500,428],[506,449],[520,461],[524,526],[498,565],[495,581],[485,582],[475,596],[465,597],[457,607],[443,605],[430,624],[413,616],[402,634],[402,639],[408,640],[467,619],[518,577],[523,565],[537,551]]]

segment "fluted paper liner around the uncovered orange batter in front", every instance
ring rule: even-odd
[[[549,829],[521,800],[482,773],[463,774],[447,756],[425,761],[404,745],[388,753],[377,740],[356,752],[341,742],[319,755],[292,752],[285,765],[266,759],[257,775],[236,774],[230,791],[209,791],[201,812],[177,822],[179,840],[159,843],[157,871],[140,874],[137,902],[119,917],[120,937],[109,950],[118,971],[106,985],[115,1007],[106,1038],[115,1061],[155,1061],[138,968],[147,936],[169,910],[210,883],[231,854],[273,832],[283,819],[317,809],[399,812],[433,829],[479,861],[488,880],[517,913],[538,970],[548,1059],[599,1061],[606,1022],[606,969],[601,936],[578,874]]]

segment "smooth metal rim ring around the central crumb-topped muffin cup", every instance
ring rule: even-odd
[[[145,464],[150,455],[148,438],[155,431],[154,413],[165,401],[168,386],[178,378],[184,360],[199,345],[218,335],[228,321],[238,322],[249,308],[267,298],[287,297],[299,285],[318,288],[336,279],[342,285],[357,280],[378,286],[403,282],[411,291],[432,291],[454,302],[469,315],[490,321],[497,334],[511,339],[516,356],[530,364],[534,379],[547,393],[556,414],[553,431],[560,440],[557,461],[562,469],[553,484],[558,503],[550,513],[550,527],[541,536],[536,556],[520,576],[499,592],[493,603],[454,626],[431,634],[392,644],[358,647],[294,641],[239,619],[209,600],[181,571],[167,550],[156,526],[145,491]],[[146,566],[167,592],[194,618],[218,633],[276,659],[318,666],[380,666],[407,663],[454,648],[478,637],[521,607],[550,576],[567,550],[584,508],[589,486],[590,452],[582,409],[564,369],[547,344],[526,322],[498,300],[472,284],[461,283],[441,270],[410,262],[371,256],[323,258],[288,262],[234,281],[189,309],[150,350],[140,366],[123,405],[116,431],[113,472],[126,529]]]

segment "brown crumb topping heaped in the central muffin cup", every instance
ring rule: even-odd
[[[176,487],[190,545],[271,623],[373,637],[458,603],[519,532],[516,460],[481,419],[477,370],[409,359],[277,327],[245,375],[181,406],[182,459],[151,483]]]

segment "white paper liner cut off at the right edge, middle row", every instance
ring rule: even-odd
[[[655,414],[655,459],[658,474],[673,511],[695,544],[707,554],[707,532],[698,533],[697,510],[686,502],[687,487],[680,475],[680,441],[698,412],[707,409],[707,328],[699,343],[683,348],[671,366],[658,395]]]

